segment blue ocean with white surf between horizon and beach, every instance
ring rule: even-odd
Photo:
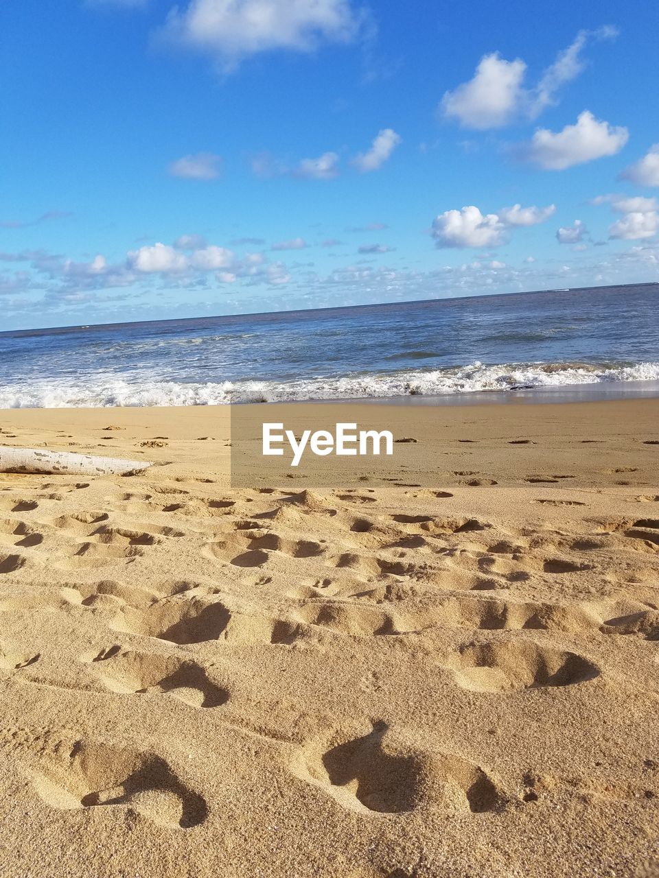
[[[3,332],[0,408],[642,389],[657,313],[637,284]]]

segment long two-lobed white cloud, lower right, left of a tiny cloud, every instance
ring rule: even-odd
[[[431,234],[437,247],[499,247],[510,238],[514,228],[537,226],[556,210],[547,207],[502,207],[498,213],[482,214],[469,205],[462,210],[440,213],[432,223]]]

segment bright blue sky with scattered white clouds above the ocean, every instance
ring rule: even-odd
[[[647,0],[0,0],[0,330],[659,281]]]

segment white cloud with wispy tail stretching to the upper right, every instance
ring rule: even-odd
[[[614,28],[580,31],[563,49],[533,88],[524,84],[526,64],[522,59],[506,61],[498,52],[483,55],[474,76],[453,91],[446,91],[440,110],[465,128],[500,128],[516,119],[536,119],[547,106],[556,103],[557,92],[581,73],[581,56],[589,40],[616,36]]]

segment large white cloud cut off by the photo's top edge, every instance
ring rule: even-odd
[[[260,52],[351,42],[360,25],[350,0],[190,0],[170,12],[162,35],[214,55],[230,70]]]

